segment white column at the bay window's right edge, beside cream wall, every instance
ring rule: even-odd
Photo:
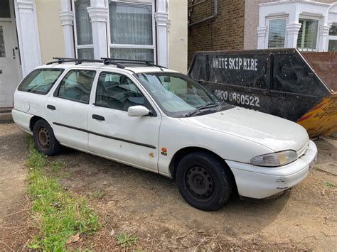
[[[169,13],[166,0],[158,0],[156,4],[156,31],[157,31],[157,64],[169,67]]]

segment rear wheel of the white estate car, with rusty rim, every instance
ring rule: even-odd
[[[60,143],[56,140],[53,128],[43,119],[36,121],[33,128],[34,145],[38,151],[46,155],[56,155],[60,152]]]

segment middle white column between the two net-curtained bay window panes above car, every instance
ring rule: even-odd
[[[87,12],[91,19],[95,59],[107,57],[108,9],[105,6],[105,0],[91,0]]]

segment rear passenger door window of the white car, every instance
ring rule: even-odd
[[[89,104],[95,75],[93,70],[70,70],[61,81],[55,97]]]

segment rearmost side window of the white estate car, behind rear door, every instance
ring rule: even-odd
[[[33,70],[18,86],[18,91],[29,92],[34,94],[48,94],[58,77],[64,69],[36,69]]]

